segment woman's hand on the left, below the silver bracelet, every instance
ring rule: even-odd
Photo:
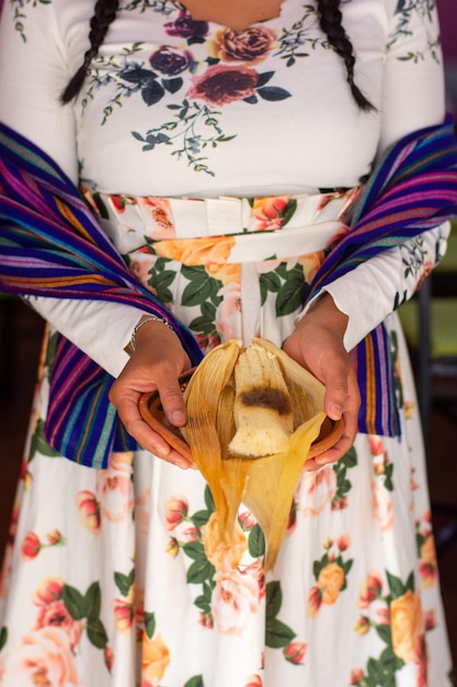
[[[144,421],[138,410],[140,395],[158,390],[171,425],[185,425],[185,406],[178,378],[188,370],[191,361],[179,337],[161,322],[145,322],[136,335],[136,350],[130,346],[126,350],[130,360],[110,391],[110,401],[117,408],[121,420],[144,449],[184,470],[193,468],[193,463]]]

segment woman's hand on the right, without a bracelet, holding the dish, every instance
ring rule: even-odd
[[[317,470],[338,461],[352,447],[357,431],[361,393],[343,346],[346,325],[347,316],[325,293],[300,319],[284,344],[285,352],[324,384],[327,415],[334,420],[341,417],[344,420],[344,432],[338,443],[307,461],[306,470]]]

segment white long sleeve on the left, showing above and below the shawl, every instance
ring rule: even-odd
[[[50,4],[42,5],[27,18],[26,25],[33,22],[33,31],[22,33],[15,12],[14,3],[7,2],[0,23],[0,120],[44,148],[77,183],[73,108],[59,101],[71,72],[56,16]],[[140,311],[102,301],[27,301],[110,374],[119,374],[128,360],[124,348],[141,317]]]

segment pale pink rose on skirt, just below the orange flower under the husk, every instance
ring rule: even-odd
[[[254,577],[233,570],[216,574],[212,610],[221,634],[242,634],[258,609],[259,586]]]

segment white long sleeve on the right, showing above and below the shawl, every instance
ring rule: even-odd
[[[379,151],[405,134],[443,122],[444,77],[436,8],[396,9],[384,69]],[[351,350],[403,301],[443,257],[448,224],[425,232],[332,282],[329,292],[349,315]],[[311,303],[308,304],[307,309]],[[304,314],[305,314],[304,312]]]

